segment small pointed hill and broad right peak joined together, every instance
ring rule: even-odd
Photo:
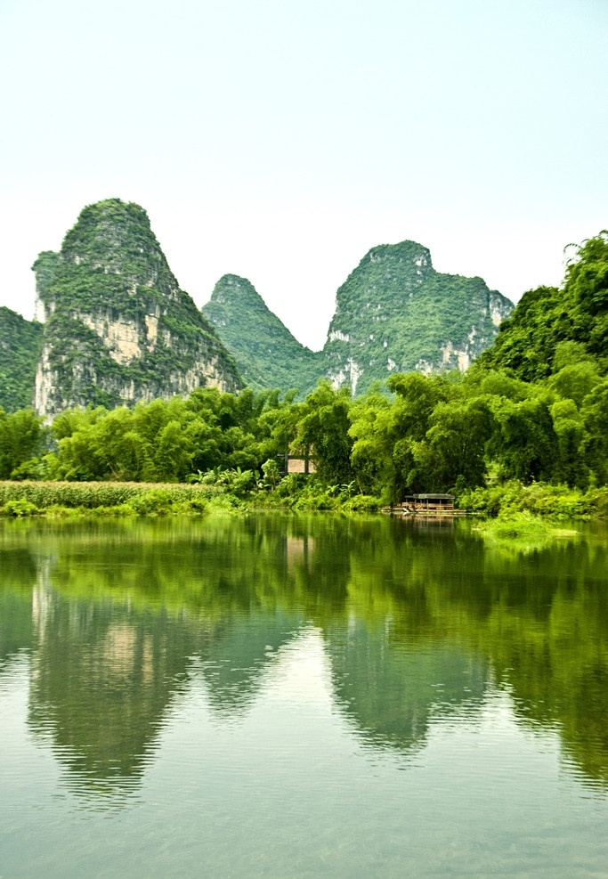
[[[203,313],[255,390],[305,394],[328,378],[355,395],[396,372],[466,370],[512,309],[481,278],[436,272],[427,248],[402,241],[369,250],[338,289],[319,354],[300,345],[235,275],[218,282]]]

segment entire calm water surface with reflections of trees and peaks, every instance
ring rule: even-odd
[[[607,536],[0,523],[0,879],[605,879]]]

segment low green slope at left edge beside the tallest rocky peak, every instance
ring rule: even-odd
[[[0,307],[0,409],[14,412],[31,406],[42,325]]]

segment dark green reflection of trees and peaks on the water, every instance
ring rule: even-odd
[[[75,790],[132,792],[193,678],[239,722],[310,625],[369,748],[415,753],[491,682],[608,785],[608,558],[590,536],[514,553],[466,522],[6,523],[0,560],[0,676],[28,652],[29,728]]]

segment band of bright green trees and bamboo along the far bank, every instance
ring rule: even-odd
[[[526,322],[524,301],[523,317],[516,309],[496,350],[464,375],[397,373],[355,400],[320,381],[300,402],[295,390],[198,388],[133,409],[69,409],[49,427],[32,411],[0,411],[0,478],[197,482],[231,504],[296,509],[377,509],[409,493],[453,492],[461,509],[501,519],[605,516],[606,266],[602,233],[581,246],[563,285],[588,343],[547,336],[552,359],[535,380],[527,346],[539,317]],[[314,475],[284,476],[288,454],[312,460]]]

